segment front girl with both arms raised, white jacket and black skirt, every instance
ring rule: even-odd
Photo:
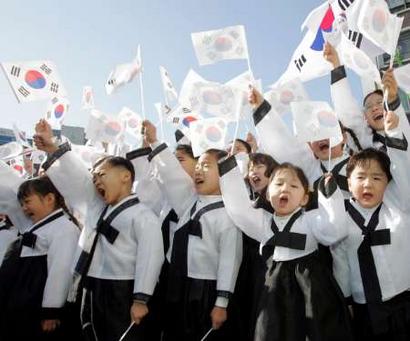
[[[234,157],[219,164],[221,191],[235,224],[262,245],[273,245],[259,300],[255,340],[351,340],[343,295],[317,256],[346,233],[343,200],[330,178],[319,184],[319,207],[305,212],[308,181],[289,163],[273,171],[267,197],[275,211],[255,209]],[[341,218],[340,218],[341,217]]]

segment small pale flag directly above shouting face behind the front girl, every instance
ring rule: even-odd
[[[294,133],[301,142],[330,139],[332,145],[343,140],[339,121],[327,102],[303,101],[290,104]]]

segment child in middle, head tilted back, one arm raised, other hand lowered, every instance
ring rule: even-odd
[[[199,341],[210,328],[209,340],[227,340],[224,325],[242,257],[242,238],[226,214],[220,196],[217,160],[225,152],[202,154],[194,181],[183,171],[166,144],[159,144],[155,127],[144,122],[146,139],[170,205],[179,217],[171,231],[168,316],[164,340]],[[220,330],[218,330],[220,329]]]

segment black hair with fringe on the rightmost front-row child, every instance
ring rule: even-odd
[[[380,165],[380,168],[386,174],[388,181],[390,181],[392,179],[390,172],[390,158],[386,153],[375,148],[366,148],[353,154],[346,166],[346,176],[349,178],[357,166],[369,166],[371,160],[376,161]]]

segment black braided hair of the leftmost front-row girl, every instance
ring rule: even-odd
[[[79,226],[77,219],[68,210],[65,204],[64,197],[60,194],[60,192],[51,182],[50,178],[47,176],[40,176],[37,178],[24,181],[18,188],[17,199],[21,203],[26,197],[32,194],[38,195],[40,197],[44,197],[49,193],[54,194],[54,198],[55,198],[54,209],[59,209],[59,208],[63,209],[64,212],[69,216],[70,220],[75,225]]]

